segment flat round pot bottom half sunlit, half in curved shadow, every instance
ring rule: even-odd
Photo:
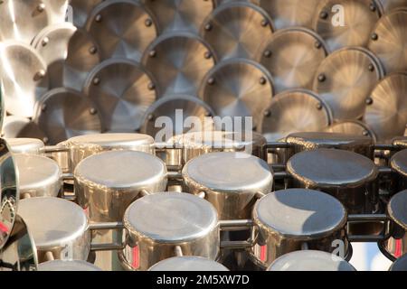
[[[253,218],[286,238],[323,238],[345,227],[346,210],[339,200],[321,191],[289,189],[260,199]]]

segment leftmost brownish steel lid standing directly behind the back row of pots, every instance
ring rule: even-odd
[[[45,134],[47,144],[58,144],[75,136],[99,133],[98,110],[80,92],[52,89],[36,105],[34,121]]]

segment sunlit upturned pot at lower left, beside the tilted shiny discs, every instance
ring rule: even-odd
[[[88,258],[88,219],[78,205],[49,197],[24,199],[19,202],[18,214],[33,234],[40,263],[50,258]]]

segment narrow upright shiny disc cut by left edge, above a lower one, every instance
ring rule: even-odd
[[[12,233],[19,199],[18,172],[14,158],[4,139],[0,139],[0,249]]]

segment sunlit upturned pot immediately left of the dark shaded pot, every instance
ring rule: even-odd
[[[201,155],[185,164],[183,178],[191,193],[204,192],[219,219],[251,219],[258,194],[269,193],[273,186],[269,165],[244,153]]]

